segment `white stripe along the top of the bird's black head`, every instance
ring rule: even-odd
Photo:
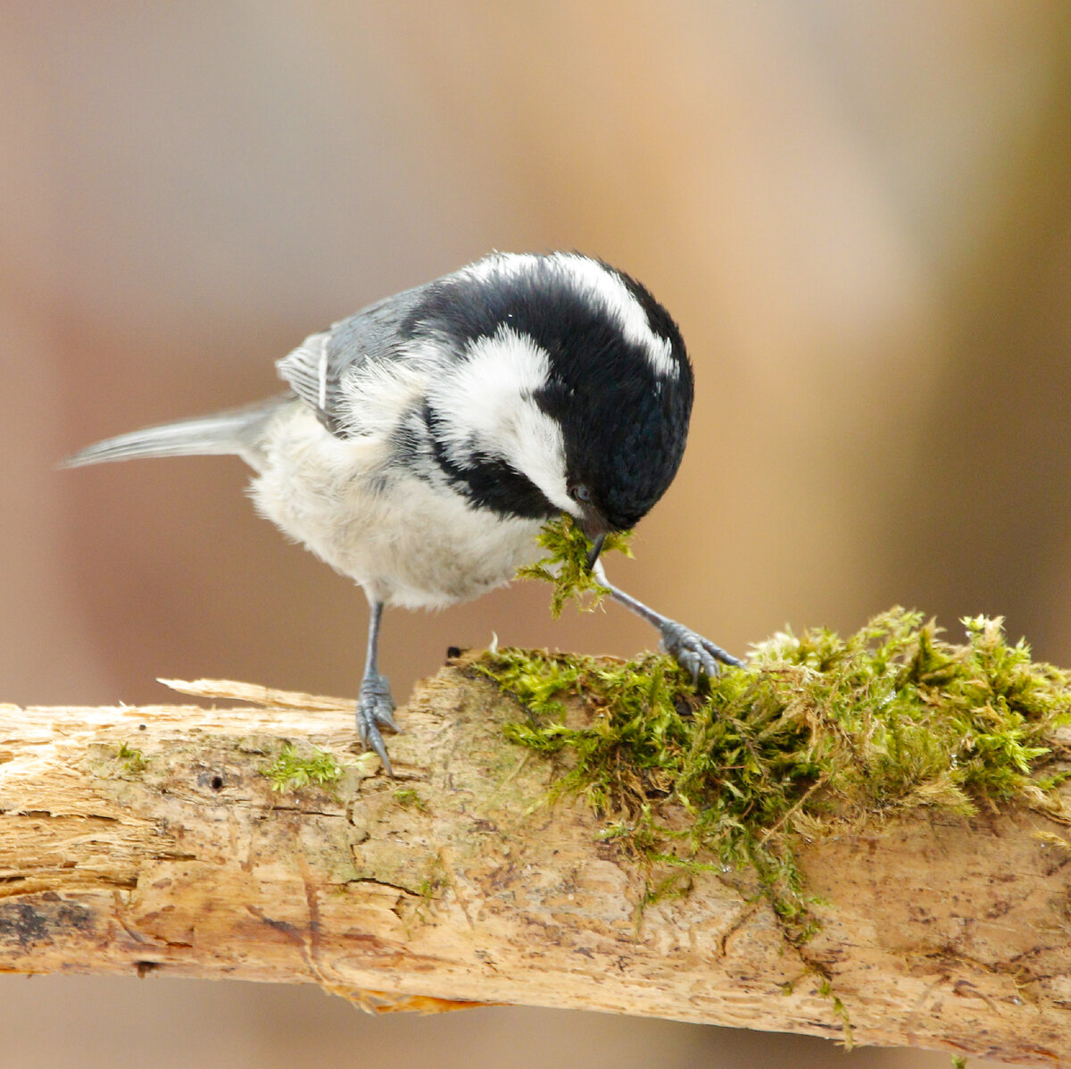
[[[530,270],[543,258],[532,253],[492,253],[464,268],[462,273],[478,281],[496,276],[515,277],[523,271]],[[644,306],[629,292],[629,287],[616,271],[579,253],[552,253],[545,258],[560,267],[578,288],[587,290],[602,304],[617,320],[625,338],[646,352],[659,375],[672,378],[680,375],[680,366],[673,358],[669,340],[654,333]]]

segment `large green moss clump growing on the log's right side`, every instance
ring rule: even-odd
[[[513,741],[564,758],[555,791],[589,799],[606,838],[665,873],[650,898],[700,869],[750,865],[802,940],[801,837],[918,807],[1057,804],[1053,733],[1071,721],[1071,676],[1009,644],[1000,620],[963,622],[962,645],[900,608],[846,638],[779,634],[699,690],[653,654],[502,650],[473,668],[529,710],[507,725]],[[582,726],[565,723],[567,692],[590,712]]]

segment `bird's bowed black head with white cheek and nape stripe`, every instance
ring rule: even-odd
[[[573,253],[496,253],[433,284],[413,322],[456,353],[425,418],[478,507],[565,512],[598,546],[673,482],[692,367],[677,325],[629,275]]]

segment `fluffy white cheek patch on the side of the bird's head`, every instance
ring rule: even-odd
[[[575,514],[561,427],[533,397],[549,374],[546,350],[503,325],[470,342],[463,361],[439,376],[427,396],[443,420],[443,443],[454,463],[469,464],[473,451],[502,456],[548,501]]]

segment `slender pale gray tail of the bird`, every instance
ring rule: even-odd
[[[254,466],[259,452],[259,431],[288,398],[275,397],[214,416],[133,431],[87,446],[60,462],[62,468],[130,461],[140,456],[215,456],[236,454]]]

